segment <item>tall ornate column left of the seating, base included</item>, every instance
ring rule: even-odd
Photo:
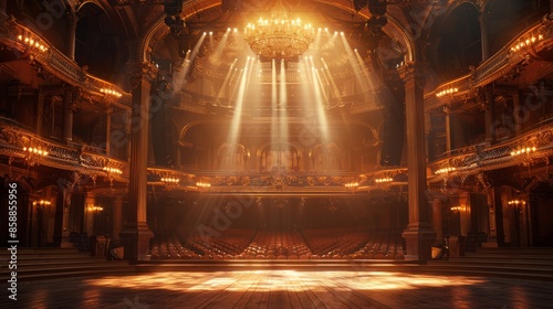
[[[146,259],[149,239],[154,236],[146,222],[148,126],[152,81],[156,67],[149,63],[129,63],[133,109],[131,114],[131,173],[128,183],[128,213],[121,239],[125,259],[136,263]]]

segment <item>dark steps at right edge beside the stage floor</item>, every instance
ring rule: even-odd
[[[421,268],[431,273],[553,280],[553,248],[478,248],[449,260],[429,260]]]

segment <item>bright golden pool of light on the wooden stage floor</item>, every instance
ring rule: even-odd
[[[249,276],[249,277],[248,277]],[[251,279],[247,279],[251,278]],[[259,280],[259,285],[252,280]],[[271,291],[311,289],[326,291],[323,287],[349,290],[416,290],[425,287],[460,287],[482,284],[472,277],[408,275],[389,271],[299,271],[299,270],[237,270],[237,271],[173,271],[150,273],[125,277],[90,279],[87,284],[98,287],[127,288],[136,290],[161,289],[170,291],[218,291],[232,287],[233,291],[251,290],[252,284]]]

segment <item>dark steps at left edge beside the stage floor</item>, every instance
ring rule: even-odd
[[[88,252],[76,248],[25,248],[17,252],[17,269],[9,269],[10,255],[0,248],[0,276],[10,278],[17,271],[18,280],[54,279],[82,276],[113,276],[135,274],[135,267],[126,260],[106,260],[92,257]]]

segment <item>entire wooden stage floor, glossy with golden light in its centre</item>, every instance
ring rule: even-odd
[[[4,280],[4,285],[6,280]],[[2,288],[6,290],[6,288]],[[551,281],[395,271],[165,271],[20,281],[0,308],[553,308]]]

